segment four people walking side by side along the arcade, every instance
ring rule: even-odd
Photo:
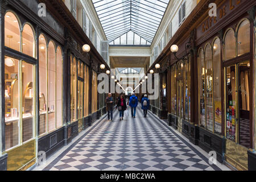
[[[127,99],[127,104],[126,104],[126,99]],[[111,121],[113,121],[113,110],[114,110],[115,102],[113,100],[111,93],[108,94],[108,97],[106,98],[105,102],[106,102],[106,110],[108,111],[108,119],[109,120],[111,119]],[[121,94],[117,98],[116,104],[117,104],[117,109],[119,111],[120,121],[123,120],[123,116],[125,115],[125,110],[127,109],[127,105],[131,107],[131,117],[135,118],[138,102],[139,102],[138,97],[135,96],[135,93],[133,93],[128,97]],[[148,100],[146,94],[141,98],[141,107],[143,110],[144,117],[146,118],[147,110],[150,107],[150,101]]]

